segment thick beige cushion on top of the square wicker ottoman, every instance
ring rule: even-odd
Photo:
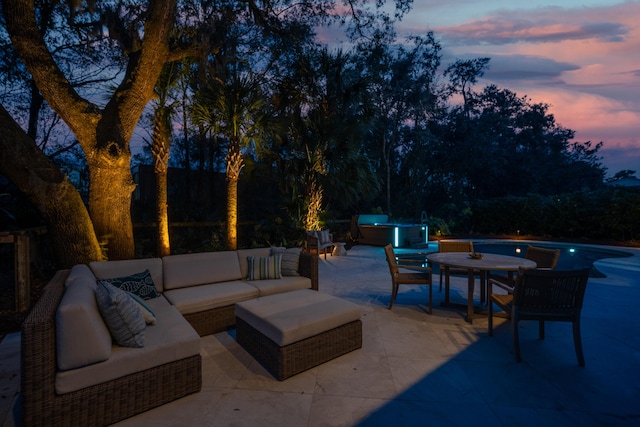
[[[279,346],[353,322],[361,315],[356,304],[310,289],[239,302],[235,312]]]

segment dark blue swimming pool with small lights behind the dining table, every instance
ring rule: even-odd
[[[560,249],[560,259],[558,260],[557,270],[575,270],[580,268],[589,268],[591,277],[605,277],[594,266],[594,261],[603,258],[620,258],[633,256],[630,252],[624,250],[601,248],[597,246],[558,243],[558,242],[538,242],[538,241],[514,241],[514,240],[474,240],[473,249],[480,253],[493,253],[500,255],[511,255],[524,258],[527,252],[527,246],[537,246],[548,249]],[[429,251],[437,251],[437,244],[429,245]],[[413,258],[418,254],[406,254]],[[405,255],[403,255],[404,257]],[[437,266],[433,266],[434,272],[438,272]]]

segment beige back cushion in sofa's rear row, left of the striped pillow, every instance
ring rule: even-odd
[[[169,255],[162,258],[164,288],[240,280],[240,263],[236,251],[202,252]]]

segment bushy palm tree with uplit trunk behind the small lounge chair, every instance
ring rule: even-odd
[[[342,51],[308,51],[275,96],[276,116],[287,129],[278,147],[279,170],[306,230],[324,226],[328,200],[353,212],[380,188],[363,151],[367,86],[353,60]]]

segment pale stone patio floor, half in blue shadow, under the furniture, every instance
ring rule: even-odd
[[[597,261],[607,277],[589,279],[585,367],[564,323],[548,323],[544,341],[537,323],[521,324],[516,363],[506,320],[496,319],[489,337],[486,316],[469,324],[463,310],[440,307],[437,275],[432,315],[426,287],[401,286],[388,310],[383,249],[355,246],[320,258],[320,292],[362,307],[362,349],[279,382],[235,342],[235,331],[207,336],[200,393],[117,425],[640,425],[640,250],[628,251],[634,256]],[[452,278],[451,295],[465,300],[466,279]],[[20,425],[19,351],[19,334],[0,345],[3,427]]]

